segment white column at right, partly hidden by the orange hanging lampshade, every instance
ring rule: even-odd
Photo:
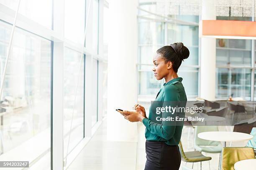
[[[213,0],[202,0],[201,20],[216,20]],[[201,38],[200,97],[215,100],[216,39]]]

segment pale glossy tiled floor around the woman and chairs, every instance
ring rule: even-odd
[[[107,141],[107,119],[97,130],[92,140],[84,147],[68,170],[144,170],[146,162],[145,153],[145,127],[138,122],[138,143]],[[220,127],[225,130],[225,127]],[[189,135],[188,135],[188,132]],[[189,138],[188,138],[189,137]],[[184,151],[193,151],[193,130],[184,127],[182,132],[182,145]],[[235,146],[244,146],[245,143],[236,143]],[[229,146],[229,143],[227,143]],[[207,154],[212,157],[210,169],[218,170],[219,154]],[[180,170],[186,163],[182,162]],[[192,163],[187,163],[191,168]],[[195,163],[193,170],[200,169],[200,163]],[[202,170],[209,170],[209,161],[202,163]]]

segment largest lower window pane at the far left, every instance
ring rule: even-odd
[[[11,25],[0,22],[0,78]],[[15,29],[0,102],[0,159],[51,167],[51,41]],[[22,153],[22,154],[17,154]]]

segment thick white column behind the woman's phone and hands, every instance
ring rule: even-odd
[[[110,0],[108,140],[137,140],[137,124],[115,111],[132,110],[137,102],[137,6],[138,0]]]

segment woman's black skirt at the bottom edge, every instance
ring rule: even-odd
[[[179,170],[181,156],[178,145],[146,140],[145,170]]]

